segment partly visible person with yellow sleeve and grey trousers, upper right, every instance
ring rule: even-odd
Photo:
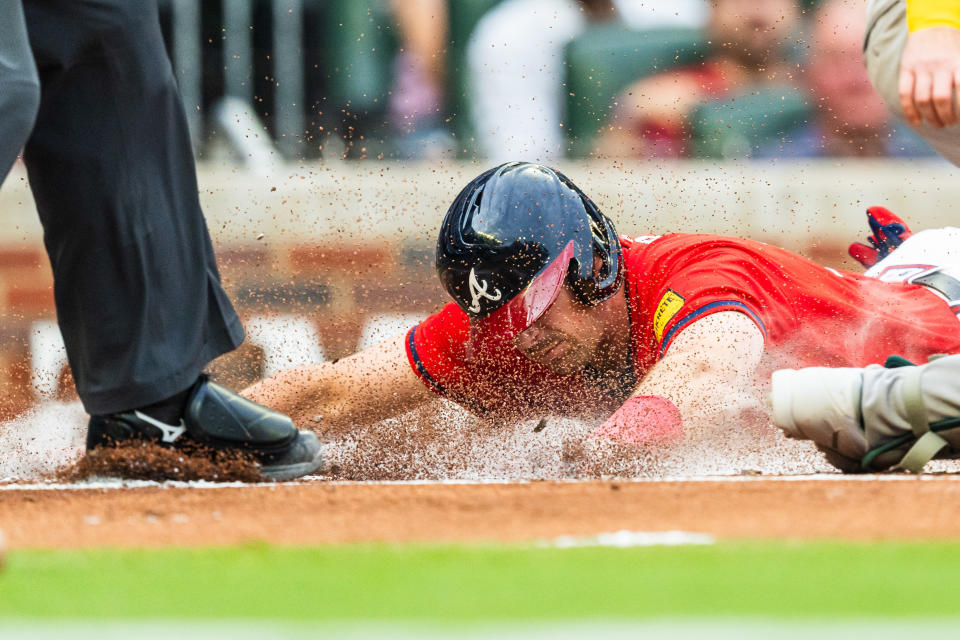
[[[863,55],[893,113],[960,166],[960,3],[869,0]]]

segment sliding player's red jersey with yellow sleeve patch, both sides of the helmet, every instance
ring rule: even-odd
[[[919,285],[825,268],[741,238],[621,242],[637,381],[685,327],[721,311],[747,315],[764,334],[765,372],[960,353],[960,320]],[[612,399],[586,373],[554,374],[509,340],[483,332],[471,340],[469,318],[452,302],[410,330],[407,356],[429,388],[479,413],[574,413]]]

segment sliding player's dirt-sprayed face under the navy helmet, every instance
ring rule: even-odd
[[[595,359],[602,331],[593,308],[578,302],[564,286],[557,300],[513,344],[526,357],[554,373],[570,375]]]

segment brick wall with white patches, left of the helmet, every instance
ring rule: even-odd
[[[211,365],[242,388],[293,364],[331,360],[395,335],[444,302],[425,251],[288,245],[218,249],[247,330]],[[0,245],[0,421],[44,397],[72,397],[42,247]]]

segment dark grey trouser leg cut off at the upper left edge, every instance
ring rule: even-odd
[[[20,0],[0,0],[0,184],[27,141],[40,103],[40,81]]]

